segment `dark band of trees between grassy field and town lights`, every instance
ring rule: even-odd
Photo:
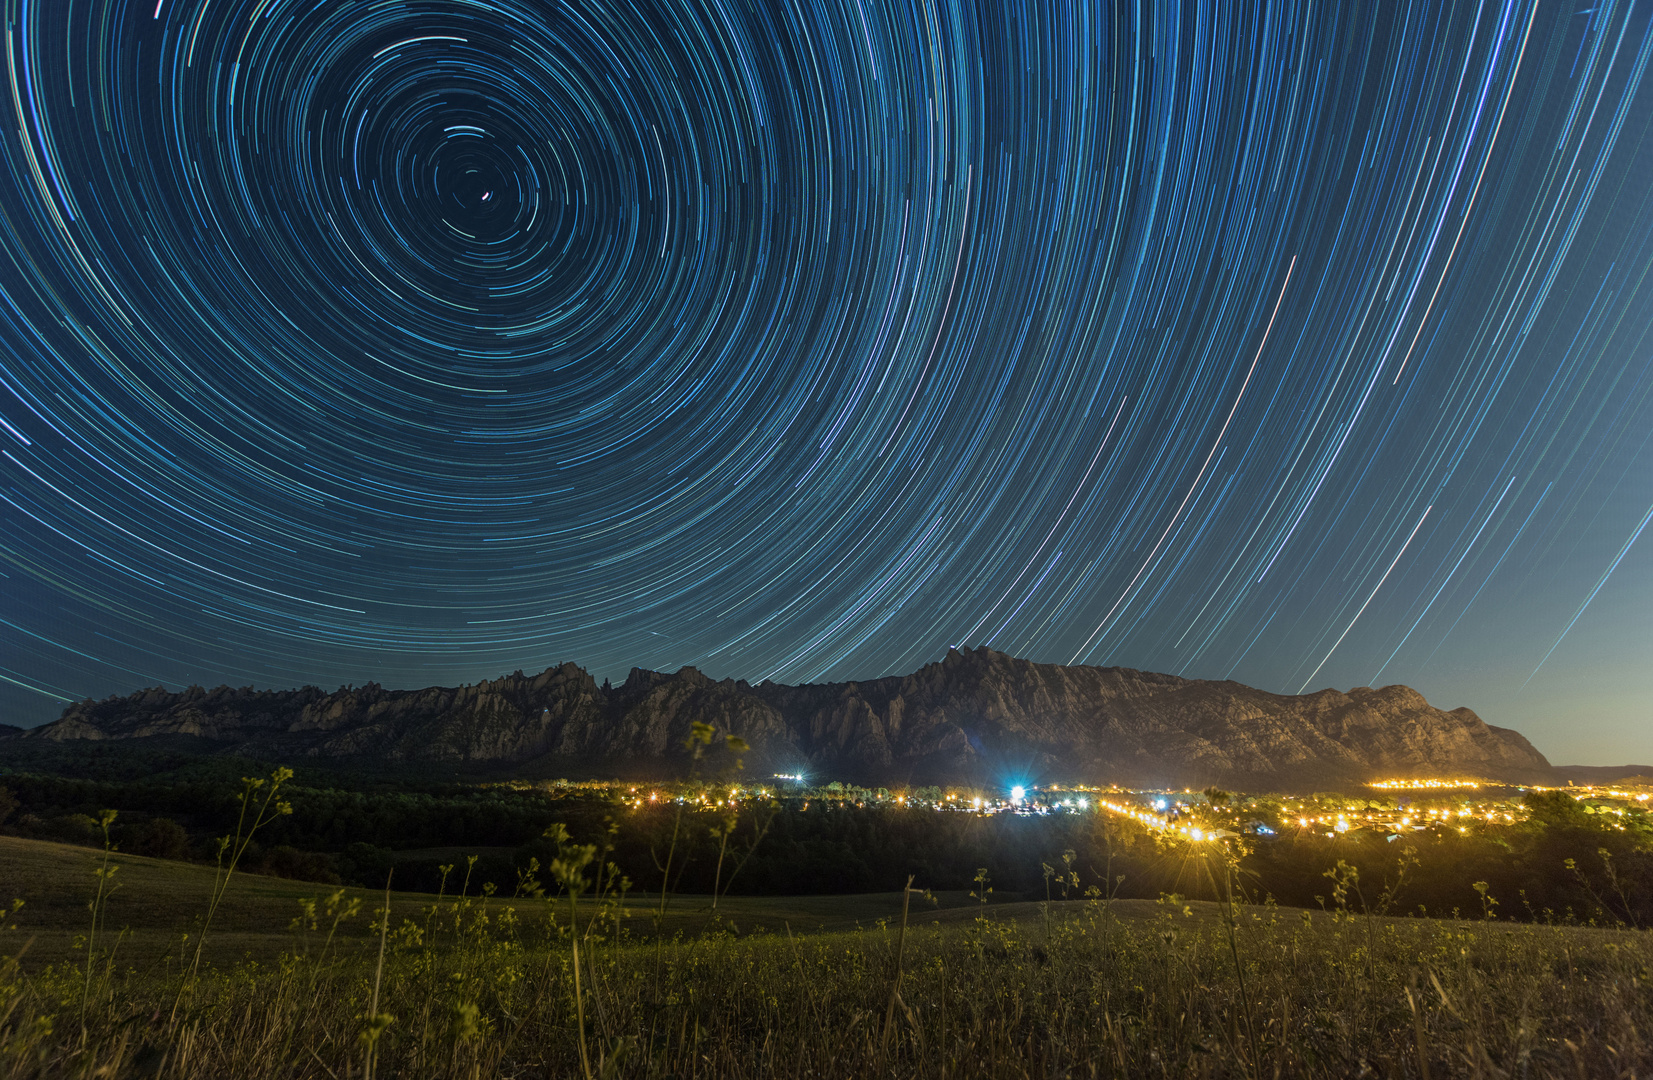
[[[1217,898],[1203,872],[1189,873],[1180,842],[1157,843],[1137,825],[1099,812],[919,812],[911,802],[944,792],[916,789],[909,805],[901,805],[841,782],[803,796],[729,805],[727,792],[737,782],[727,767],[727,738],[706,728],[691,741],[704,751],[707,776],[661,786],[656,794],[666,797],[640,807],[623,805],[615,791],[577,784],[306,787],[289,779],[281,800],[291,814],[260,829],[241,868],[362,886],[382,886],[393,868],[398,886],[436,891],[441,867],[464,852],[479,857],[476,885],[491,882],[511,891],[529,860],[550,865],[554,852],[544,834],[557,822],[577,843],[610,845],[605,858],[651,893],[866,893],[896,890],[907,875],[931,888],[969,890],[977,868],[985,867],[1000,895],[1040,898],[1043,867],[1056,867],[1063,852],[1073,852],[1071,870],[1084,886],[1112,896],[1182,891]],[[96,847],[98,810],[121,807],[114,832],[121,850],[175,858],[183,853],[182,830],[188,852],[207,862],[215,857],[213,839],[233,832],[243,796],[240,784],[222,779],[174,786],[144,777],[13,772],[7,786],[20,804],[13,830],[23,835]],[[1526,824],[1435,829],[1407,834],[1397,843],[1384,832],[1360,829],[1349,802],[1324,794],[1326,810],[1354,819],[1355,829],[1347,834],[1288,830],[1256,843],[1243,860],[1250,888],[1283,905],[1314,906],[1314,898],[1327,893],[1322,872],[1344,860],[1369,886],[1365,900],[1377,905],[1395,877],[1397,847],[1412,847],[1415,865],[1407,875],[1403,908],[1397,910],[1479,911],[1483,896],[1470,883],[1486,882],[1488,896],[1506,920],[1564,921],[1570,913],[1603,925],[1653,925],[1653,815],[1636,807],[1617,812],[1565,791],[1534,792],[1526,800],[1532,812]],[[1278,820],[1283,809],[1278,799],[1255,796],[1228,796],[1227,805],[1241,820],[1250,814]],[[610,822],[620,825],[612,837]],[[1574,860],[1572,870],[1565,868],[1567,858]],[[1354,898],[1351,910],[1362,911],[1364,903]]]

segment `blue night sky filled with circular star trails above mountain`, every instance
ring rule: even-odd
[[[1653,757],[1653,5],[3,8],[0,719],[985,643]]]

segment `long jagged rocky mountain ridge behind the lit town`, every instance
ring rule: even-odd
[[[1521,734],[1415,690],[1286,696],[1233,681],[949,650],[906,676],[784,686],[633,668],[598,686],[565,663],[473,686],[326,693],[190,686],[69,706],[41,739],[195,736],[264,757],[374,757],[648,774],[694,721],[742,736],[749,767],[858,779],[1322,784],[1375,776],[1551,779]]]

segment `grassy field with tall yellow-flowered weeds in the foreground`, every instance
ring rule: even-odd
[[[212,868],[117,855],[88,949],[101,858],[0,840],[25,900],[0,1077],[1653,1072],[1635,931],[898,893],[679,896],[651,936],[658,898],[392,893],[387,918],[383,893],[245,875],[192,972]]]

